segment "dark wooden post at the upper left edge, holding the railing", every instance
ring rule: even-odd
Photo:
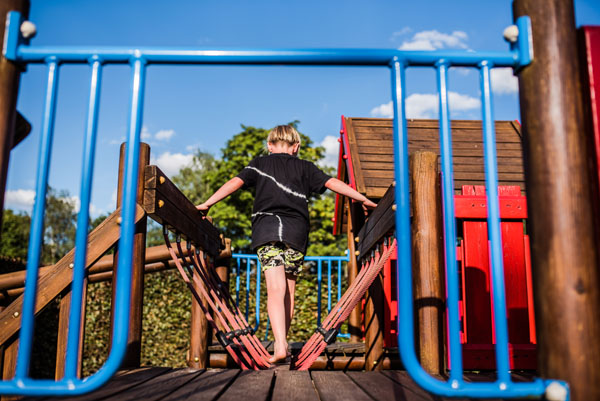
[[[6,14],[9,11],[19,11],[23,17],[29,15],[29,0],[4,0],[0,2],[0,38],[4,41]],[[10,151],[13,147],[15,131],[17,94],[19,92],[19,77],[21,69],[4,56],[0,55],[0,207],[4,208],[4,190]],[[0,214],[0,228],[2,215]]]

